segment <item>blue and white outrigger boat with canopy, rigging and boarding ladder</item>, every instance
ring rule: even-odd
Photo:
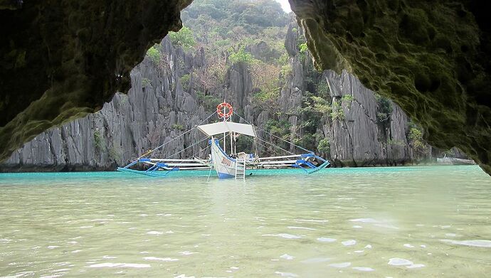
[[[208,120],[213,117],[213,115],[218,114],[218,117],[220,119],[223,119],[222,122],[215,122],[212,124],[204,124],[205,122],[208,122]],[[118,167],[118,171],[125,171],[125,172],[132,172],[132,173],[142,173],[147,176],[166,176],[167,173],[170,173],[171,171],[178,171],[179,169],[182,170],[189,170],[189,169],[194,169],[194,170],[199,170],[199,169],[208,169],[209,167],[209,172],[208,172],[208,179],[209,180],[211,176],[211,170],[213,168],[216,169],[216,172],[218,173],[218,178],[230,178],[235,176],[235,178],[245,178],[245,161],[248,161],[249,166],[256,166],[256,167],[273,167],[277,168],[278,166],[292,166],[292,167],[297,167],[297,168],[302,168],[304,167],[310,167],[311,172],[313,171],[318,171],[319,169],[325,168],[325,166],[329,163],[328,161],[324,161],[324,159],[315,156],[315,154],[312,151],[309,151],[302,146],[298,146],[297,144],[294,144],[291,141],[287,141],[286,139],[283,139],[282,137],[279,137],[275,134],[272,134],[271,132],[268,132],[265,129],[257,129],[248,122],[245,118],[241,117],[241,115],[236,114],[236,117],[238,117],[238,122],[233,122],[232,121],[232,116],[233,116],[233,108],[230,104],[227,102],[223,102],[220,105],[218,105],[217,109],[215,112],[210,114],[206,119],[201,121],[198,125],[195,125],[191,129],[187,130],[186,132],[182,132],[178,136],[169,139],[168,141],[164,142],[164,144],[161,144],[157,146],[156,148],[147,151],[147,153],[143,154],[142,156],[139,156],[139,158],[132,163],[128,164],[124,168]],[[242,123],[241,123],[242,122]],[[247,123],[247,124],[243,124]],[[178,147],[182,147],[184,149],[181,149],[180,151],[175,149],[174,147],[170,147],[169,145],[171,142],[176,141],[177,139],[182,139],[182,137],[186,136],[186,134],[189,134],[193,132],[195,129],[199,129],[201,132],[206,134],[205,137],[199,139],[198,141],[194,141],[193,144],[186,146],[184,142],[181,142],[178,144]],[[261,137],[267,138],[264,134],[269,135],[269,141],[261,138],[258,136],[258,133],[260,132]],[[264,133],[263,133],[264,132]],[[173,132],[174,133],[174,132]],[[215,138],[217,134],[223,134],[222,138]],[[237,154],[237,149],[236,147],[238,145],[243,145],[241,144],[240,141],[238,141],[238,136],[239,135],[247,135],[245,136],[245,139],[250,140],[253,142],[253,148],[255,148],[255,155],[253,154],[245,154],[243,152],[239,152]],[[230,136],[230,151],[231,154],[228,156],[227,154],[227,148],[226,148],[226,143],[228,143],[227,137]],[[248,137],[249,136],[249,137]],[[196,139],[198,136],[196,133],[188,135],[187,139]],[[207,144],[206,147],[203,147],[204,141],[208,140],[209,138],[212,138],[213,140],[216,141],[211,141],[211,144]],[[273,138],[278,139],[280,141],[275,141]],[[222,141],[223,144],[223,149],[221,148],[220,144],[218,143],[219,141]],[[275,144],[273,143],[275,141]],[[288,146],[285,146],[283,143],[287,143]],[[233,144],[235,142],[235,144]],[[199,146],[201,144],[201,146]],[[184,147],[184,146],[185,147]],[[235,145],[235,146],[234,146]],[[167,156],[166,159],[156,159],[152,158],[153,156],[151,155],[154,151],[157,151],[158,149],[163,148],[164,146],[167,146],[167,149],[165,152],[169,150],[176,151],[174,154],[171,154],[170,156]],[[196,148],[196,146],[199,146]],[[243,145],[245,146],[245,145]],[[243,147],[242,146],[242,147]],[[247,144],[248,146],[248,144]],[[258,146],[262,146],[266,153],[273,155],[273,156],[268,156],[268,157],[263,157],[260,158],[258,155]],[[273,146],[273,148],[271,147]],[[283,149],[282,146],[285,146],[285,149]],[[304,155],[304,154],[295,154],[294,152],[294,147],[297,149],[301,149],[303,151],[307,151],[310,154]],[[192,151],[188,151],[189,149],[192,149]],[[211,154],[206,156],[205,159],[201,159],[201,155],[205,154],[206,155],[206,150],[210,148]],[[280,149],[283,152],[283,155],[279,152],[276,151],[276,149]],[[288,151],[287,149],[290,148],[292,151]],[[163,151],[161,151],[163,152]],[[162,154],[159,152],[159,154]],[[192,156],[190,158],[185,158],[185,159],[179,159],[179,157],[189,155],[189,152],[192,152]],[[184,153],[184,154],[183,154]],[[278,156],[278,153],[280,156]],[[198,154],[198,156],[196,156]],[[287,155],[285,155],[287,154]],[[157,155],[157,154],[154,154]],[[276,155],[276,156],[275,156]],[[145,157],[142,159],[143,157]],[[317,159],[321,159],[324,161],[324,164],[322,164],[322,167],[317,167],[314,164],[310,163],[308,161],[308,158],[310,156],[315,156]],[[176,159],[172,159],[176,157]],[[189,156],[186,156],[189,157]],[[307,157],[307,159],[300,159]],[[295,159],[294,159],[295,158]],[[234,160],[236,159],[236,160]],[[176,163],[177,162],[177,163]],[[139,170],[134,170],[130,169],[131,166],[137,164],[137,163],[143,163],[143,164],[152,164],[152,166],[149,167],[149,169],[146,169],[144,171],[139,171]],[[243,169],[239,169],[238,165],[243,167]],[[302,166],[303,165],[303,166]],[[182,166],[182,168],[181,168]],[[235,169],[233,169],[235,167]],[[232,169],[232,170],[231,170]],[[167,172],[162,173],[163,170],[167,170]],[[305,169],[304,169],[305,170]],[[161,171],[159,173],[159,171]],[[231,172],[232,171],[232,172]],[[307,171],[307,170],[305,170]]]

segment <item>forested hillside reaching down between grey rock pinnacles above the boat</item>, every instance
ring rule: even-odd
[[[252,76],[253,105],[265,109],[276,103],[281,87],[278,73],[291,73],[284,46],[289,18],[280,4],[272,0],[195,0],[181,12],[181,18],[189,31],[183,28],[179,33],[199,34],[194,39],[204,48],[209,65],[209,69],[196,70],[201,84],[195,89],[202,92],[201,103],[212,108],[218,97],[214,94],[223,91],[227,68],[236,63],[245,63]]]

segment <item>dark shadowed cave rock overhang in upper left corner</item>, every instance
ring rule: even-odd
[[[0,159],[100,110],[191,0],[1,1]]]

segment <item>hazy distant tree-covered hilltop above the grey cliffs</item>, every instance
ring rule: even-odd
[[[260,41],[271,48],[271,53],[285,53],[283,41],[289,19],[275,1],[195,0],[181,11],[181,18],[192,29],[185,31],[187,36],[200,34],[195,39],[203,43],[207,56],[218,58],[229,48],[248,49]]]

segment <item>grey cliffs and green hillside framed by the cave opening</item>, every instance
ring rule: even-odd
[[[287,1],[195,0],[180,17],[183,27],[151,46],[132,70],[128,95],[117,93],[100,112],[57,127],[59,132],[38,135],[6,164],[36,169],[39,160],[48,160],[57,168],[73,163],[109,169],[196,124],[196,114],[204,118],[223,100],[248,122],[319,152],[334,166],[467,158],[458,149],[433,148],[423,138],[425,130],[396,103],[362,85],[368,82],[365,77],[360,82],[346,70],[338,74],[315,68],[304,26],[298,25]],[[401,22],[408,25],[406,17]],[[379,45],[386,48],[381,41]],[[433,92],[440,80],[422,73],[414,85]],[[124,114],[127,109],[132,111]],[[84,135],[76,136],[80,130]],[[52,151],[24,154],[42,150],[45,140]]]

